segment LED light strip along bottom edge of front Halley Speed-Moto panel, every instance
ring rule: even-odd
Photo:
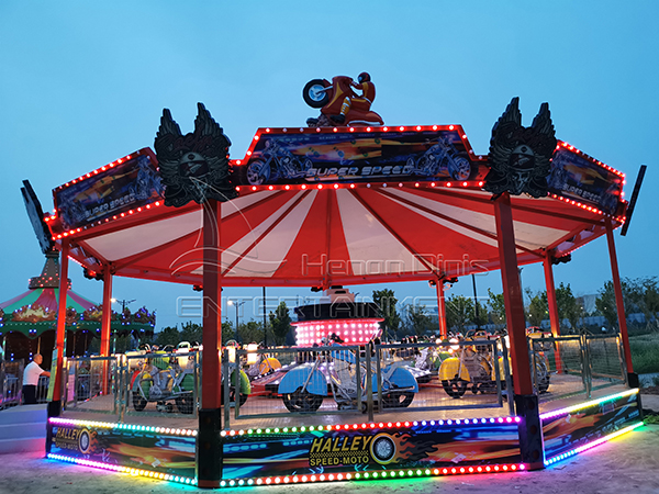
[[[437,475],[468,475],[474,473],[501,473],[501,472],[516,472],[518,470],[526,470],[524,463],[512,463],[512,464],[493,464],[493,465],[479,465],[479,467],[453,467],[442,469],[401,469],[401,470],[387,470],[387,471],[375,471],[375,472],[358,472],[358,473],[321,473],[321,474],[309,474],[309,475],[281,475],[281,476],[264,476],[258,479],[237,479],[237,480],[223,480],[220,482],[221,487],[241,487],[248,485],[281,485],[281,484],[298,484],[309,482],[336,482],[336,481],[350,481],[350,480],[386,480],[386,479],[403,479],[411,476],[437,476]]]

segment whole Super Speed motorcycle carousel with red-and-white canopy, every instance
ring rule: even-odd
[[[619,389],[604,395],[589,391],[585,400],[569,406],[556,402],[540,409],[517,271],[518,265],[544,263],[555,338],[556,260],[605,235],[619,290],[613,231],[628,221],[624,173],[557,141],[546,103],[532,126],[524,127],[518,100],[513,99],[493,127],[490,153],[477,155],[460,125],[384,125],[380,115],[369,113],[373,97],[366,74],[358,82],[311,81],[304,99],[321,108],[321,116],[308,127],[259,128],[245,157],[233,160],[231,142],[201,103],[194,132],[186,135],[165,110],[156,153],[143,148],[54,190],[56,213],[43,222],[63,267],[70,257],[89,272],[101,273],[104,283],[124,276],[203,287],[204,328],[198,426],[89,422],[63,415],[55,397],[49,458],[204,487],[513,472],[546,468],[643,425],[622,294],[618,321],[626,373]],[[364,422],[356,409],[358,415],[345,424],[319,414],[310,425],[309,417],[292,415],[300,422],[222,430],[227,406],[217,390],[223,369],[228,370],[220,356],[222,287],[330,290],[433,281],[446,335],[444,282],[498,269],[510,338],[511,415],[438,419],[434,409],[422,414],[415,408],[417,384],[407,380],[398,386],[402,406],[394,418],[369,416]],[[330,328],[336,322],[304,319],[305,311],[302,316],[298,329],[299,344],[308,345],[304,350],[317,357],[313,344],[335,334],[345,345],[323,351],[332,355],[355,344],[351,356],[360,356],[362,341],[358,333],[350,340],[351,327],[338,334]],[[58,348],[64,347],[63,328],[58,319]],[[109,330],[101,333],[107,338]],[[361,336],[373,335],[367,330]],[[386,350],[380,345],[367,348]],[[364,351],[369,362],[370,350]],[[495,371],[496,361],[490,366]],[[300,366],[300,379],[290,388],[281,389],[283,379],[279,383],[289,411],[311,412],[314,396],[327,393],[327,375],[332,383],[344,371],[316,373],[321,363],[314,358]],[[361,369],[357,361],[342,364]],[[401,369],[392,375],[404,373]],[[383,382],[382,369],[371,375]],[[360,380],[346,377],[346,383],[350,385],[343,390],[330,384],[337,405],[342,396],[342,406],[355,406],[364,398],[364,388],[372,398],[373,389]],[[71,439],[85,437],[98,440]],[[136,463],[122,452],[127,446],[170,461]]]

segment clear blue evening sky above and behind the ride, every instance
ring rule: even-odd
[[[627,173],[627,197],[647,164],[629,233],[615,237],[623,277],[658,276],[657,19],[656,1],[3,0],[0,301],[25,291],[43,266],[23,179],[49,210],[55,187],[153,147],[163,108],[190,132],[198,101],[242,158],[257,127],[304,125],[315,114],[301,98],[308,80],[364,70],[378,90],[372,108],[390,125],[462,124],[476,153],[487,154],[492,125],[518,96],[525,125],[549,102],[557,137]],[[596,292],[611,279],[605,239],[579,249],[555,277],[578,294]],[[101,283],[75,263],[70,278],[77,292],[102,299]],[[541,265],[525,267],[522,279],[544,289]],[[471,294],[470,281],[448,293]],[[478,287],[501,291],[500,273],[480,277]],[[382,285],[355,291],[373,288]],[[434,295],[426,283],[389,288],[399,299]],[[298,294],[312,295],[268,289],[269,296]],[[177,315],[177,300],[194,295],[178,284],[114,282],[115,297],[136,299],[131,308],[157,310],[157,328],[189,321]],[[235,310],[227,314],[233,321]]]

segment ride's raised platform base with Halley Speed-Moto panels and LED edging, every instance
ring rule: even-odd
[[[556,382],[560,385],[560,381]],[[423,400],[423,390],[420,392]],[[110,400],[110,396],[104,398]],[[451,400],[454,403],[459,400]],[[250,403],[252,402],[252,403]],[[527,427],[506,407],[330,413],[330,400],[313,415],[249,417],[249,406],[281,401],[255,396],[244,418],[217,429],[220,486],[376,480],[549,467],[643,425],[638,389],[614,385],[539,404],[537,461],[523,458]],[[459,403],[458,403],[459,404]],[[524,406],[518,404],[517,407]],[[234,409],[231,409],[234,413]],[[47,456],[116,472],[197,484],[199,420],[192,416],[119,416],[65,411],[48,420]]]

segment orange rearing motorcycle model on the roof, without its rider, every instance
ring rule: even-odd
[[[340,106],[346,97],[358,98],[353,90],[353,79],[347,76],[336,76],[332,82],[327,79],[312,79],[304,86],[302,98],[311,108],[321,109],[321,115],[317,119],[309,119],[306,124],[310,127],[336,127],[350,125],[356,122],[383,125],[382,117],[373,111],[362,111],[358,108],[350,108],[345,116],[345,121],[337,124],[332,116],[340,114]]]

